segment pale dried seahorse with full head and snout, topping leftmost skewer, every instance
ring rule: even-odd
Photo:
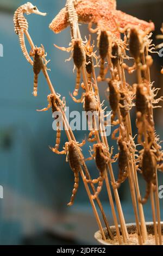
[[[27,61],[33,65],[33,60],[30,58],[26,44],[24,39],[24,32],[28,31],[28,22],[26,18],[24,17],[24,14],[38,14],[45,16],[46,13],[41,13],[32,3],[27,2],[26,4],[21,5],[14,14],[14,27],[15,27],[15,33],[18,35],[18,38],[20,40],[20,45],[22,52],[24,56],[26,57]]]

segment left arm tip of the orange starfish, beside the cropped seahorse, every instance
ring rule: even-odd
[[[49,28],[56,34],[67,28],[69,25],[66,8],[61,9],[59,14],[54,18]]]

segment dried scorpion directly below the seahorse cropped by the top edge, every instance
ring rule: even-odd
[[[84,54],[84,46],[82,39],[72,39],[72,42],[70,44],[71,46],[68,48],[65,47],[59,47],[57,45],[54,45],[55,47],[59,48],[62,51],[71,51],[71,57],[67,59],[68,61],[71,60],[73,57],[74,65],[77,68],[77,78],[76,78],[76,87],[74,89],[73,95],[78,95],[78,90],[80,87],[80,78],[81,78],[81,68],[82,65],[85,62],[85,54]]]

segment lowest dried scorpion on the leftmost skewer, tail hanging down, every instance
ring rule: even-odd
[[[83,147],[85,144],[85,141],[83,141],[81,144],[71,141],[71,142],[66,142],[65,143],[65,148],[63,151],[58,151],[55,148],[51,148],[51,150],[59,155],[66,155],[66,161],[70,163],[70,167],[74,173],[74,188],[72,191],[72,196],[70,203],[68,203],[68,206],[72,206],[74,203],[74,197],[76,196],[76,193],[78,191],[78,186],[79,186],[79,172],[82,169],[82,164],[83,164],[83,158],[81,156],[81,150],[80,147]]]

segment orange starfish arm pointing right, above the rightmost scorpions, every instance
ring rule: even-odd
[[[145,31],[147,28],[151,28],[151,31],[154,31],[153,22],[139,20],[136,17],[123,13],[122,11],[119,11],[119,10],[111,11],[111,13],[114,16],[114,19],[116,20],[116,22],[122,28],[126,27],[127,25],[131,25],[131,26],[134,25],[134,26],[140,26],[140,28],[143,31]]]

